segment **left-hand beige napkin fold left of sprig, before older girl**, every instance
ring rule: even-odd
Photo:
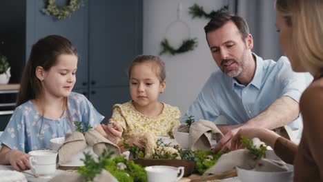
[[[72,156],[88,146],[81,132],[72,132],[66,136],[63,145],[58,150],[59,164],[66,163]]]

